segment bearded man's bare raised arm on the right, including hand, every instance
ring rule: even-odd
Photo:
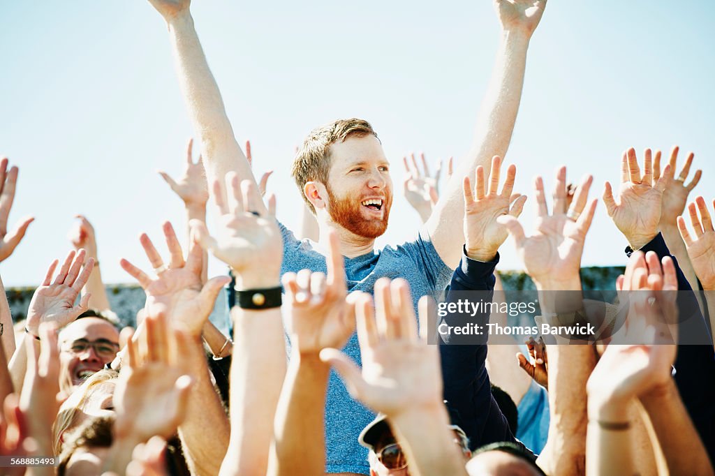
[[[478,165],[489,172],[490,159],[504,157],[516,122],[526,69],[526,50],[538,26],[546,0],[495,0],[501,24],[496,63],[483,100],[473,145],[467,157],[455,165],[455,177],[471,176]],[[462,191],[459,180],[450,180],[427,222],[435,249],[449,267],[456,267],[463,237]]]

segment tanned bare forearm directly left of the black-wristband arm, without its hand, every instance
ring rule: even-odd
[[[230,425],[221,399],[211,382],[200,339],[184,349],[187,370],[194,378],[186,418],[179,425],[179,438],[192,475],[217,475],[226,455]]]

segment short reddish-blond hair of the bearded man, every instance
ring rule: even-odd
[[[307,182],[314,181],[321,182],[327,187],[327,175],[330,172],[330,146],[336,142],[343,142],[351,136],[363,137],[367,135],[378,137],[369,122],[352,117],[337,119],[325,126],[316,127],[305,138],[295,155],[291,174],[300,190],[300,195],[313,214],[315,214],[315,207],[305,197],[303,188]]]

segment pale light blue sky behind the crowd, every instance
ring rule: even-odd
[[[393,162],[395,204],[385,242],[413,237],[401,159],[463,157],[492,68],[498,23],[487,0],[346,4],[194,0],[197,30],[240,142],[255,169],[275,169],[278,215],[296,228],[302,200],[293,147],[318,124],[361,116]],[[508,163],[516,189],[567,164],[594,175],[600,197],[627,147],[696,152],[694,195],[715,197],[711,1],[551,0],[531,42]],[[177,175],[192,134],[167,31],[147,1],[0,4],[0,153],[20,167],[10,224],[32,214],[2,264],[6,285],[37,284],[64,256],[74,214],[92,221],[106,282],[130,282],[126,257],[149,267],[138,235],[184,225],[182,205],[155,172]],[[210,222],[209,222],[210,228]],[[584,265],[622,264],[625,242],[599,204]],[[518,269],[513,244],[501,269]],[[223,272],[212,262],[210,274]]]

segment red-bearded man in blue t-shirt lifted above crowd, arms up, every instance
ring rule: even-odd
[[[190,0],[149,1],[167,22],[179,85],[201,139],[208,183],[224,182],[228,172],[235,172],[238,179],[248,180],[257,187],[204,57],[189,11]],[[368,122],[338,120],[315,129],[302,144],[293,165],[293,176],[308,207],[316,214],[320,242],[300,242],[282,227],[282,273],[297,272],[300,287],[307,285],[305,279],[310,274],[301,273],[301,269],[325,272],[330,228],[340,237],[348,291],[373,292],[375,281],[380,277],[403,277],[410,282],[416,307],[423,294],[435,294],[448,284],[453,269],[460,262],[465,242],[461,181],[465,176],[473,176],[478,166],[488,174],[492,157],[506,154],[521,99],[526,51],[546,0],[494,0],[494,6],[501,24],[501,41],[478,115],[473,146],[467,156],[455,164],[453,179],[413,241],[379,251],[374,249],[375,238],[385,232],[388,224],[393,183],[388,159]],[[357,44],[354,46],[360,48]],[[498,183],[495,175],[492,179]],[[217,201],[225,203],[225,199],[216,197],[223,193],[220,188],[212,192]],[[255,212],[266,211],[262,202],[251,206]],[[473,257],[480,259],[477,254]],[[491,257],[484,256],[485,261],[489,259]],[[266,287],[275,285],[265,284]],[[273,296],[276,289],[242,289],[241,283],[236,289],[241,295],[237,299],[241,307],[275,306],[278,301],[275,297],[265,299],[266,292]],[[355,335],[345,352],[358,360],[360,352]],[[320,361],[312,365],[325,367]],[[331,373],[325,407],[327,473],[370,474],[367,450],[358,444],[358,435],[371,420],[373,415],[352,400],[340,379]]]

